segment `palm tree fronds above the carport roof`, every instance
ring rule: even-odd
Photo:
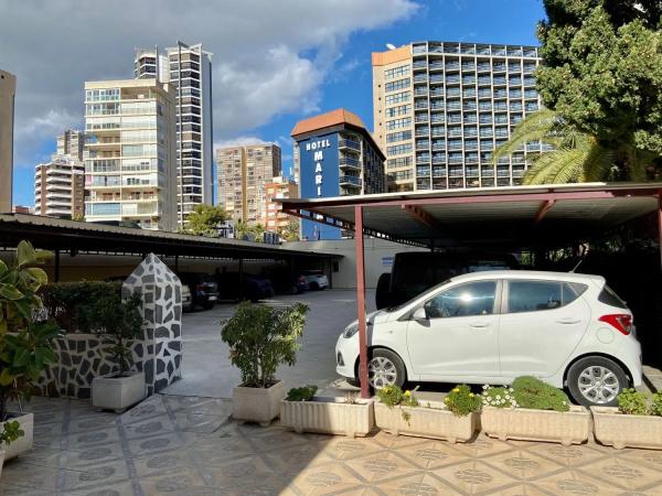
[[[494,150],[492,162],[532,141],[553,149],[533,159],[523,184],[606,181],[613,175],[612,152],[598,140],[566,125],[553,110],[542,109],[517,125],[510,140]]]

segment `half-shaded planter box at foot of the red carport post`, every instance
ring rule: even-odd
[[[280,423],[301,432],[344,434],[351,438],[366,435],[374,428],[372,400],[345,403],[344,398],[318,397],[312,401],[287,401],[280,403]]]

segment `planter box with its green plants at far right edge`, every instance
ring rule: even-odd
[[[623,389],[618,407],[590,407],[596,439],[622,450],[662,450],[662,393]]]

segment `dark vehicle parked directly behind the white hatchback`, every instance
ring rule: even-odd
[[[377,310],[397,306],[425,290],[462,273],[517,269],[511,254],[404,251],[395,254],[391,273],[377,281]]]

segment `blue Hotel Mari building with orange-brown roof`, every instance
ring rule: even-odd
[[[318,198],[384,193],[384,153],[359,116],[337,109],[297,122],[295,176],[299,196]],[[305,239],[339,239],[340,229],[301,223]]]

